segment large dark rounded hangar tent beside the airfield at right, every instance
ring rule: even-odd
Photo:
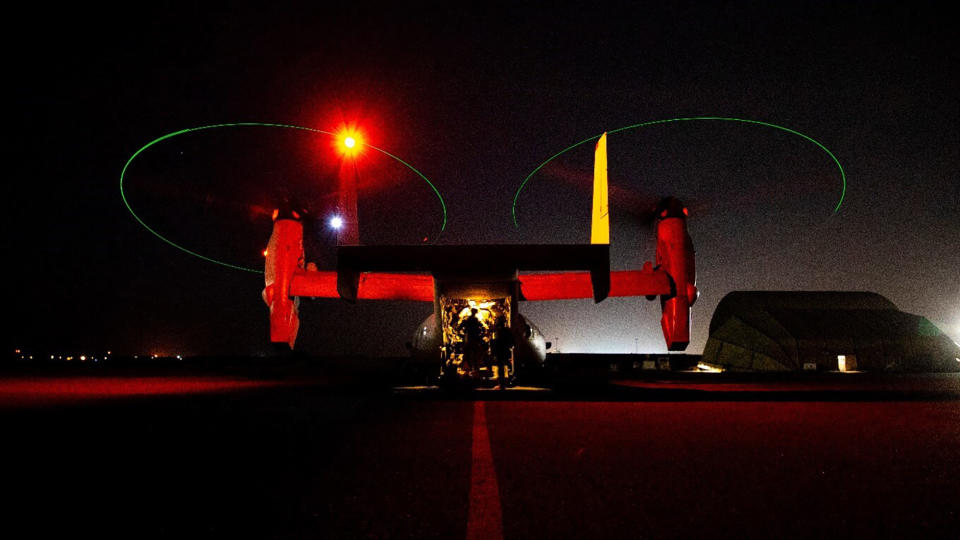
[[[933,323],[871,292],[732,292],[703,351],[735,371],[960,371],[958,358]]]

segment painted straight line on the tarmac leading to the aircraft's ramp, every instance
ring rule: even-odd
[[[500,486],[490,451],[487,432],[486,403],[473,404],[473,448],[470,465],[470,510],[467,518],[467,540],[502,540],[503,511]]]

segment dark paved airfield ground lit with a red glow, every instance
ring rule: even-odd
[[[302,366],[2,375],[4,538],[960,531],[960,374],[466,396]]]

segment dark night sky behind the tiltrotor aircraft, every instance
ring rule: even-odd
[[[260,7],[149,4],[20,8],[5,49],[11,129],[9,348],[115,353],[271,350],[262,276],[156,239],[119,192],[127,159],[184,128],[358,123],[365,243],[574,243],[589,239],[592,144],[611,136],[613,267],[653,258],[637,220],[674,195],[691,208],[698,287],[690,352],[733,290],[869,290],[960,341],[960,85],[947,10],[925,2]],[[131,11],[130,9],[135,9]],[[144,152],[131,204],[183,245],[262,264],[269,208],[323,216],[328,139],[220,129]],[[310,249],[332,268],[330,233]],[[326,257],[326,258],[324,258]],[[304,301],[298,347],[401,354],[428,304]],[[659,304],[642,298],[521,306],[563,352],[662,352]]]

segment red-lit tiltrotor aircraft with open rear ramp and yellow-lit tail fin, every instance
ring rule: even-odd
[[[520,301],[645,296],[660,298],[667,348],[684,350],[690,341],[690,308],[698,294],[686,214],[678,200],[661,201],[655,217],[656,264],[611,272],[606,135],[595,153],[590,244],[343,245],[337,250],[337,270],[319,271],[304,260],[299,214],[277,212],[265,252],[263,299],[270,309],[270,340],[293,347],[301,297],[432,302],[433,313],[409,344],[412,353],[435,362],[448,379],[476,383],[497,375],[490,361],[496,319],[506,323],[514,338],[508,375],[515,368],[544,366],[550,345],[520,315]],[[471,317],[483,330],[481,354],[476,356],[463,332]]]

